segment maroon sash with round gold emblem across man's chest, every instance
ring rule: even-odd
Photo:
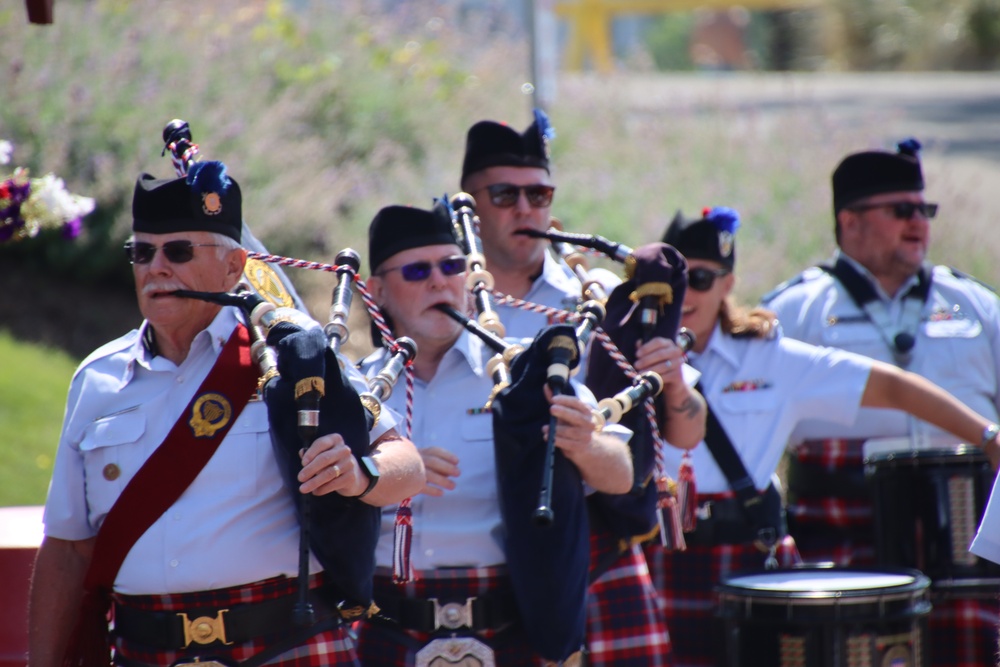
[[[250,358],[249,333],[239,324],[177,423],[125,486],[97,531],[64,666],[109,663],[111,589],[125,556],[215,454],[253,395],[257,377]]]

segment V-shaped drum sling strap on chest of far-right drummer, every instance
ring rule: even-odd
[[[879,299],[875,288],[851,266],[850,262],[839,257],[833,266],[821,264],[819,268],[840,281],[851,296],[851,300],[879,330],[882,339],[892,350],[896,365],[900,368],[909,366],[913,359],[913,345],[917,342],[920,313],[931,292],[932,267],[927,264],[921,265],[917,272],[917,284],[903,296],[902,322],[898,328],[889,321],[889,313],[886,312],[885,305]]]

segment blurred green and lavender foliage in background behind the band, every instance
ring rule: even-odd
[[[951,12],[959,26],[973,6],[995,18],[997,2],[828,7],[882,21],[885,31],[927,23],[904,20],[918,10]],[[783,56],[795,68],[815,57],[813,35],[837,34],[833,16],[824,23],[809,10],[753,14],[748,30],[757,41],[799,35]],[[678,45],[693,21],[673,14],[658,24],[672,49],[664,63],[690,66]],[[15,143],[16,163],[55,172],[98,205],[77,241],[50,235],[0,247],[0,266],[30,263],[57,280],[130,289],[120,245],[134,179],[142,171],[172,175],[161,134],[178,117],[190,123],[203,158],[229,165],[245,217],[269,250],[329,262],[355,247],[364,257],[379,208],[427,206],[457,190],[470,125],[530,122],[525,44],[495,13],[459,11],[456,2],[217,0],[178,11],[156,0],[60,0],[52,26],[26,26],[20,12],[0,11],[0,137]],[[755,48],[762,66],[781,60]],[[553,213],[567,229],[637,245],[659,238],[678,208],[736,207],[741,256],[753,260],[737,289],[753,300],[832,249],[828,183],[837,160],[902,137],[884,114],[845,120],[809,103],[808,83],[772,78],[772,92],[757,99],[756,89],[770,84],[734,82],[753,93],[754,101],[738,102],[722,76],[680,76],[688,78],[561,75],[548,109],[557,132]],[[972,241],[991,214],[970,194],[967,172],[950,175],[936,161],[937,149],[926,152],[932,196],[956,215],[952,227],[949,219],[935,223],[945,231],[932,256],[997,282],[996,244]],[[322,318],[330,274],[293,271],[292,279]]]

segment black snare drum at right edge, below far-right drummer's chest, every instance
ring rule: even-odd
[[[969,551],[993,488],[976,447],[883,452],[865,459],[880,565],[913,567],[934,581],[1000,577]]]

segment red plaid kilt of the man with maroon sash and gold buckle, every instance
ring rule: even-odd
[[[310,579],[310,588],[322,585],[322,575]],[[240,604],[250,604],[276,600],[294,595],[298,590],[297,580],[288,577],[274,577],[246,586],[219,588],[211,591],[178,593],[172,595],[114,595],[115,605],[124,605],[144,611],[176,611],[189,609],[223,609]],[[207,652],[205,647],[193,645],[197,652],[175,650],[153,650],[146,646],[130,643],[120,637],[115,639],[115,651],[134,662],[147,665],[170,665],[181,659],[192,659],[195,655],[213,656],[231,662],[242,662],[281,641],[284,634],[261,637],[252,642],[233,646],[219,646]],[[278,667],[321,667],[325,665],[353,665],[358,667],[354,640],[347,626],[341,626],[312,636],[298,647],[293,648],[267,663]]]

